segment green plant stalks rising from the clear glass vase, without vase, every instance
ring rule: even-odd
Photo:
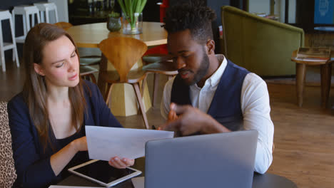
[[[135,28],[136,20],[139,14],[143,11],[147,0],[117,0],[118,4],[124,14],[128,17],[128,22],[131,25],[131,29]],[[138,14],[135,14],[138,13]],[[126,18],[123,18],[126,19]]]

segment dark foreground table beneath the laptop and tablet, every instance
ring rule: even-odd
[[[136,160],[136,164],[133,165],[133,168],[139,169],[144,172],[145,169],[145,158],[141,157]],[[66,186],[86,186],[86,187],[101,187],[100,185],[89,182],[88,180],[76,176],[71,175],[64,179],[63,181],[59,182],[58,185],[66,185]],[[132,188],[132,182],[131,179],[127,180],[126,182],[122,182],[118,185],[116,185],[118,188]],[[253,178],[253,188],[296,188],[297,185],[290,181],[289,179],[285,177],[278,176],[276,174],[258,174],[254,173]]]

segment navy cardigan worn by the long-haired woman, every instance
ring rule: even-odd
[[[98,87],[85,80],[83,88],[87,112],[84,114],[83,126],[79,133],[86,135],[84,125],[122,127],[116,117],[111,114]],[[53,151],[51,147],[47,147],[44,151],[22,93],[19,93],[9,101],[8,113],[17,173],[15,185],[36,188],[48,187],[49,184],[59,182],[62,179],[62,173],[56,176],[50,164],[51,155],[61,150],[61,146],[56,141],[54,134],[50,132],[51,142],[56,147],[56,150]],[[86,160],[88,160],[88,155],[85,156],[87,156]]]

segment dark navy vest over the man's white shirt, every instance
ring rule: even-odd
[[[211,115],[229,130],[241,130],[243,113],[241,110],[241,88],[246,75],[250,73],[245,68],[236,66],[228,60],[226,69],[221,76],[215,95],[208,109]],[[189,86],[183,83],[179,75],[173,82],[171,103],[191,105]]]

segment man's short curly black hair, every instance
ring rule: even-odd
[[[203,1],[191,0],[168,8],[163,27],[168,33],[189,29],[193,40],[205,44],[208,39],[213,39],[211,21],[214,19],[215,12],[204,6]]]

